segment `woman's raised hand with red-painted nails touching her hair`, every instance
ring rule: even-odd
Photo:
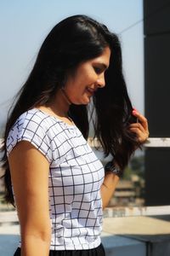
[[[138,142],[142,144],[147,140],[150,134],[148,130],[148,121],[144,115],[139,113],[136,109],[133,109],[133,116],[138,119],[138,122],[129,125],[129,129],[136,134]]]

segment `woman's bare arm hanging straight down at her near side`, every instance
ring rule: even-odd
[[[48,160],[31,143],[23,141],[14,147],[8,162],[20,219],[21,255],[48,256]]]

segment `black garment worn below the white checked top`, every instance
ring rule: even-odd
[[[20,247],[17,248],[14,256],[20,256]],[[49,251],[49,256],[105,256],[105,249],[102,244],[99,247],[89,250],[65,250],[65,251]]]

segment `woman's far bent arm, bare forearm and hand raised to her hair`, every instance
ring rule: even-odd
[[[144,143],[149,137],[148,121],[136,109],[133,109],[133,115],[138,119],[137,123],[129,125],[130,131],[134,132],[140,144]],[[103,208],[107,207],[111,197],[116,189],[119,177],[113,172],[106,172],[104,183],[101,185],[100,193]]]

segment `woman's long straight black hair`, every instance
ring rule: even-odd
[[[101,55],[107,46],[111,49],[111,61],[105,72],[105,88],[94,94],[94,136],[99,138],[105,156],[112,154],[122,169],[127,165],[138,143],[135,136],[128,131],[133,108],[122,75],[119,39],[96,20],[86,15],[74,15],[60,21],[49,32],[26,83],[15,99],[14,107],[8,113],[2,158],[6,201],[14,204],[5,145],[8,132],[16,119],[28,109],[48,104],[65,85],[68,72],[76,70],[82,61]],[[88,106],[72,104],[69,114],[82,135],[88,138]]]

